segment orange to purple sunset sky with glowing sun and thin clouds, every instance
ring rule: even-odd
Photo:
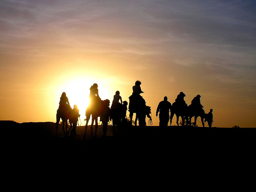
[[[251,0],[1,0],[0,120],[56,122],[66,92],[84,124],[93,83],[129,102],[140,80],[153,125],[182,91],[212,126],[256,127],[255,20]]]

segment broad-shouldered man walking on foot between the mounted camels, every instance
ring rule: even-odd
[[[169,114],[172,109],[172,104],[167,100],[168,98],[165,96],[163,101],[160,101],[157,106],[156,116],[159,113],[159,126],[167,127],[169,122]]]

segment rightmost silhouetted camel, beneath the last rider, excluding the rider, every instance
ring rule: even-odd
[[[187,116],[188,116],[188,125],[191,125],[191,119],[192,117],[195,117],[195,122],[193,123],[194,126],[197,125],[197,118],[201,117],[201,122],[204,127],[204,118],[205,118],[205,112],[203,108],[194,108],[192,105],[188,105],[187,108]]]

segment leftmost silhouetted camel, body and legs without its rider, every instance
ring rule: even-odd
[[[68,136],[68,119],[70,117],[71,114],[71,108],[59,108],[57,110],[57,114],[56,114],[56,137],[58,136],[58,125],[59,125],[59,121],[60,119],[62,120],[62,130],[64,132],[65,136]],[[66,131],[65,131],[65,125],[66,125]]]

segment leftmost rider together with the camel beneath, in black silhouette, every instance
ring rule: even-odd
[[[64,135],[67,136],[68,119],[70,118],[70,113],[71,113],[71,107],[69,104],[69,99],[66,96],[66,93],[63,92],[60,97],[59,108],[56,114],[56,136],[58,136],[58,125],[59,125],[60,119],[62,120],[62,130],[64,132]],[[66,125],[66,131],[64,129],[65,125]]]

